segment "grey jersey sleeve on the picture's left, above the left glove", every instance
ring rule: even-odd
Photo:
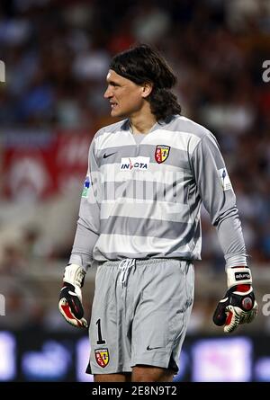
[[[69,263],[81,265],[85,271],[93,260],[94,244],[100,228],[101,186],[99,168],[94,155],[94,139],[89,148],[88,170],[76,226],[76,235]]]

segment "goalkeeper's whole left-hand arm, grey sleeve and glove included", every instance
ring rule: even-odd
[[[82,306],[85,273],[93,260],[93,248],[99,236],[101,188],[94,140],[89,149],[88,171],[82,192],[79,218],[72,253],[65,268],[58,308],[69,324],[87,327]]]

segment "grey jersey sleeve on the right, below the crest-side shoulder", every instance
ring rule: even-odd
[[[226,267],[247,265],[236,196],[216,139],[205,135],[193,151],[193,176],[211,224],[217,228]]]

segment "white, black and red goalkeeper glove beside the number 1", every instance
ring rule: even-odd
[[[82,306],[82,291],[85,270],[76,264],[69,264],[65,268],[63,288],[59,296],[59,311],[69,324],[86,328],[87,322]]]

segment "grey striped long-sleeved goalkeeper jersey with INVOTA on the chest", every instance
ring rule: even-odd
[[[69,262],[87,269],[123,258],[200,260],[202,202],[227,266],[247,265],[235,194],[209,130],[178,115],[139,143],[129,120],[100,129]]]

